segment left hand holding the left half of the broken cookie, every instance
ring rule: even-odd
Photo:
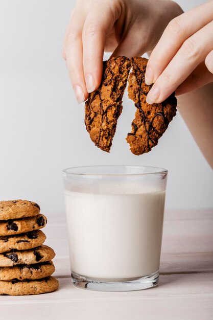
[[[100,85],[104,51],[141,56],[182,12],[171,0],[77,0],[62,55],[78,102]]]

